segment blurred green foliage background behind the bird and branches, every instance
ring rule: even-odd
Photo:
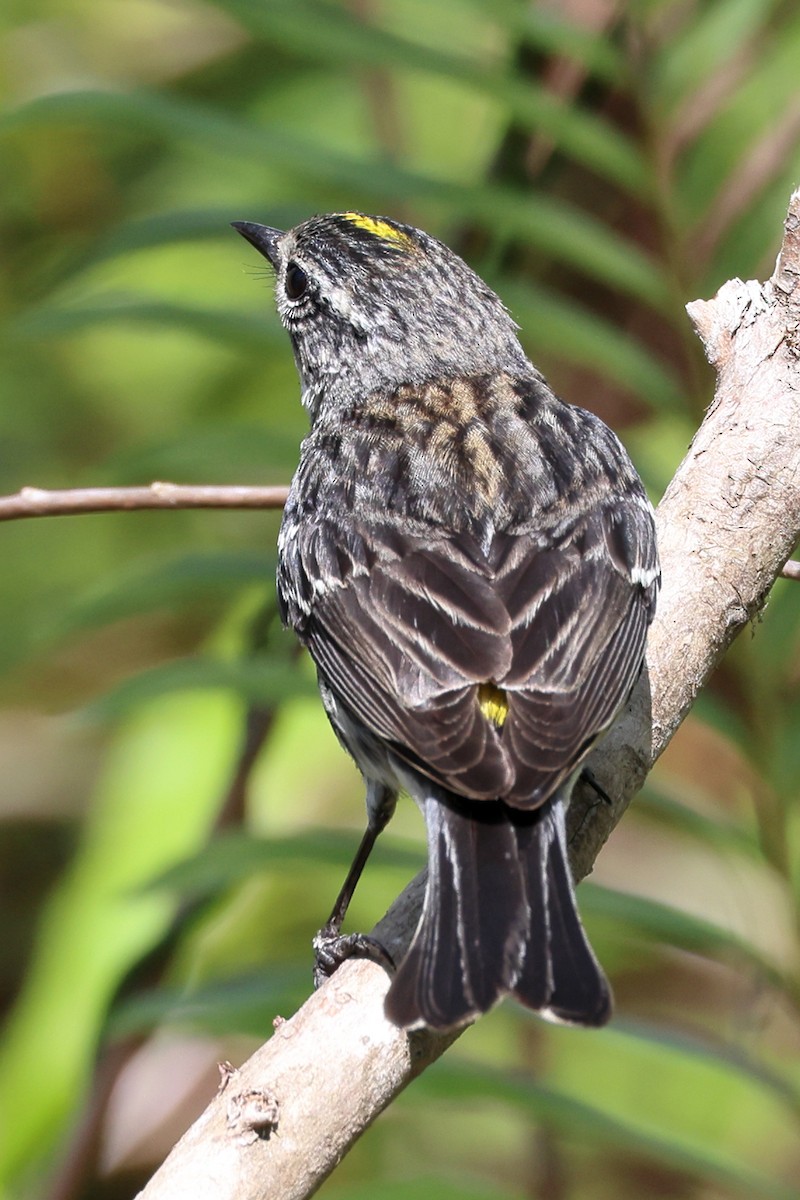
[[[712,395],[684,305],[771,274],[792,0],[6,0],[0,491],[288,482],[305,430],[231,220],[420,224],[657,500]],[[363,821],[275,619],[278,515],[0,532],[0,1193],[131,1196],[309,986]],[[800,586],[579,889],[607,1030],[506,1003],[320,1195],[800,1194]],[[423,862],[404,803],[354,904]]]

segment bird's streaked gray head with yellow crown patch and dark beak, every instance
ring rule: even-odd
[[[317,216],[283,233],[237,222],[276,270],[312,414],[403,383],[530,374],[500,299],[443,242],[387,217]]]

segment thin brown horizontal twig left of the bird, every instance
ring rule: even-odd
[[[149,484],[146,487],[23,487],[0,496],[0,521],[76,516],[80,512],[132,512],[136,509],[281,509],[288,487]]]

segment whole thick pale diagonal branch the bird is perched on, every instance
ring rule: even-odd
[[[646,670],[591,761],[613,806],[573,803],[578,877],[640,786],[726,647],[764,604],[800,534],[800,193],[772,278],[690,305],[715,364],[714,402],[658,508],[663,590]],[[393,953],[419,913],[417,878],[375,930]],[[233,1076],[142,1200],[301,1200],[452,1038],[407,1037],[383,1015],[384,972],[345,964]],[[242,1116],[243,1115],[243,1116]]]

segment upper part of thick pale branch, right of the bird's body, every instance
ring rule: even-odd
[[[663,583],[646,672],[590,760],[603,790],[620,799],[609,810],[581,788],[572,804],[578,876],[733,638],[754,624],[798,544],[799,281],[800,191],[772,277],[730,280],[714,300],[687,305],[717,384],[656,514]]]

